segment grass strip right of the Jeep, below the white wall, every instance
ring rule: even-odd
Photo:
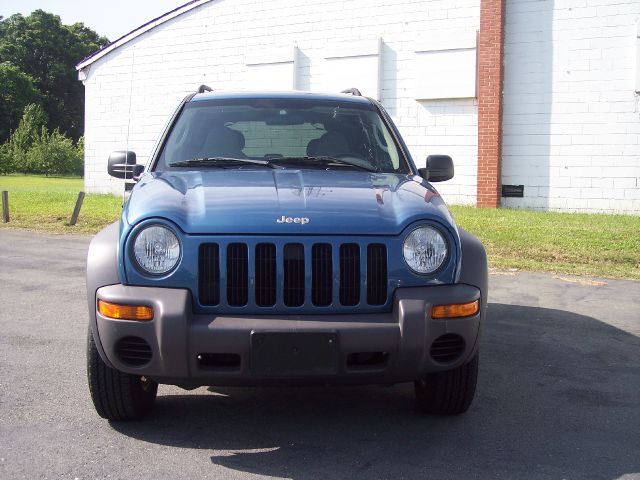
[[[640,216],[452,206],[491,267],[640,279]]]

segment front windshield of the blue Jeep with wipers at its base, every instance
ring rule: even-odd
[[[156,170],[266,165],[408,171],[373,106],[291,99],[187,103]]]

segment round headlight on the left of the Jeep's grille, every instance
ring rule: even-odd
[[[167,227],[152,225],[136,235],[133,256],[143,272],[162,275],[178,263],[180,242]]]

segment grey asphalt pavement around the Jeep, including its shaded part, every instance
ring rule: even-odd
[[[0,478],[640,478],[640,283],[491,276],[478,396],[161,387],[139,423],[85,381],[89,239],[0,230]]]

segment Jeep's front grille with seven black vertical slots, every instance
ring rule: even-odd
[[[203,243],[199,253],[203,306],[355,307],[389,300],[382,243]]]

